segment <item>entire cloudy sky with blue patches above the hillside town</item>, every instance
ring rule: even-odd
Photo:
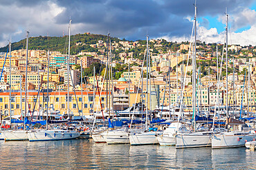
[[[91,32],[127,40],[190,41],[194,0],[1,0],[0,47],[30,36]],[[256,0],[197,0],[197,39],[256,45]],[[11,38],[10,38],[11,37]]]

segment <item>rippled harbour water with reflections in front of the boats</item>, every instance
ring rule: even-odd
[[[1,169],[256,169],[256,151],[96,144],[92,140],[0,141]]]

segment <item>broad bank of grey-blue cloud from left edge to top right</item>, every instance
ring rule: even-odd
[[[236,11],[250,6],[253,0],[198,0],[199,17],[223,15],[225,8]],[[91,32],[126,39],[145,39],[159,36],[188,36],[192,23],[185,19],[194,15],[194,0],[1,0],[0,41],[6,35],[22,30],[16,39],[32,36],[62,36],[71,17],[75,33]],[[53,6],[54,4],[54,6]],[[60,10],[60,8],[62,10]],[[60,13],[52,14],[56,10]],[[203,23],[207,25],[207,21]],[[66,32],[65,32],[66,33]],[[74,32],[73,32],[74,33]]]

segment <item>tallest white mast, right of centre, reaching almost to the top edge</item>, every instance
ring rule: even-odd
[[[194,4],[194,55],[192,60],[193,65],[193,92],[192,92],[192,102],[193,102],[193,114],[194,114],[194,131],[196,130],[196,3]]]

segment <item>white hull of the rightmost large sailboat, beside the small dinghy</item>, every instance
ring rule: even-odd
[[[217,134],[212,136],[212,149],[245,147],[246,142],[256,140],[256,134]]]

